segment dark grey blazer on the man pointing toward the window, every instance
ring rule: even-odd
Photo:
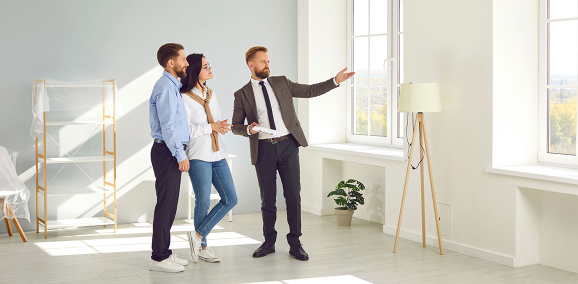
[[[277,101],[279,101],[281,117],[283,117],[285,127],[287,127],[287,130],[291,132],[297,142],[299,142],[299,145],[307,147],[307,139],[305,139],[301,123],[299,123],[297,119],[293,98],[313,98],[318,95],[323,95],[337,87],[333,82],[333,78],[313,85],[293,83],[287,79],[286,76],[273,76],[267,80],[269,84],[271,84],[273,91],[275,91]],[[236,135],[249,137],[251,164],[254,165],[257,163],[257,153],[259,153],[257,150],[259,146],[259,135],[247,135],[247,127],[253,122],[258,123],[259,117],[257,116],[255,94],[253,93],[253,86],[251,86],[250,81],[235,92],[233,108],[233,118],[231,121],[231,124],[233,124],[232,131]],[[247,119],[247,124],[244,124],[245,119]]]

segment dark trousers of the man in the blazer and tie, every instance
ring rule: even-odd
[[[295,138],[279,143],[259,141],[257,180],[261,189],[261,216],[263,217],[263,235],[265,242],[275,244],[277,231],[277,171],[283,184],[283,196],[287,205],[287,223],[289,245],[300,244],[301,237],[301,183],[299,182],[299,143]]]

